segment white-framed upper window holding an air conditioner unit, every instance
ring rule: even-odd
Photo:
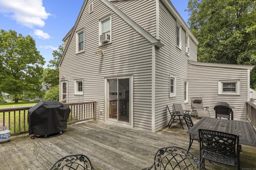
[[[111,42],[111,22],[111,15],[106,16],[99,20],[99,45]]]

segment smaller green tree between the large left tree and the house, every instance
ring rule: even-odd
[[[48,83],[51,87],[59,85],[59,68],[58,63],[63,54],[63,46],[60,45],[58,50],[53,51],[53,59],[49,61],[48,68],[44,69],[44,82]]]

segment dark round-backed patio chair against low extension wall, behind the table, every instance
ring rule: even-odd
[[[215,110],[215,118],[224,117],[224,118],[230,119],[230,115],[231,115],[231,120],[234,119],[233,110],[227,102],[217,102],[214,106],[214,110]]]

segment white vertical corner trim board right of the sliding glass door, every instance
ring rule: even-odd
[[[156,131],[156,47],[152,45],[152,90],[151,90],[151,107],[152,107],[152,132]]]

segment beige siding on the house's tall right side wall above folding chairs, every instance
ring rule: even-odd
[[[160,40],[164,47],[156,50],[156,130],[168,124],[170,114],[166,108],[173,110],[173,103],[184,104],[184,80],[188,80],[188,59],[196,59],[196,45],[190,39],[190,55],[185,52],[186,32],[182,30],[182,47],[176,47],[176,19],[160,2]],[[176,76],[176,97],[169,97],[169,75]]]

